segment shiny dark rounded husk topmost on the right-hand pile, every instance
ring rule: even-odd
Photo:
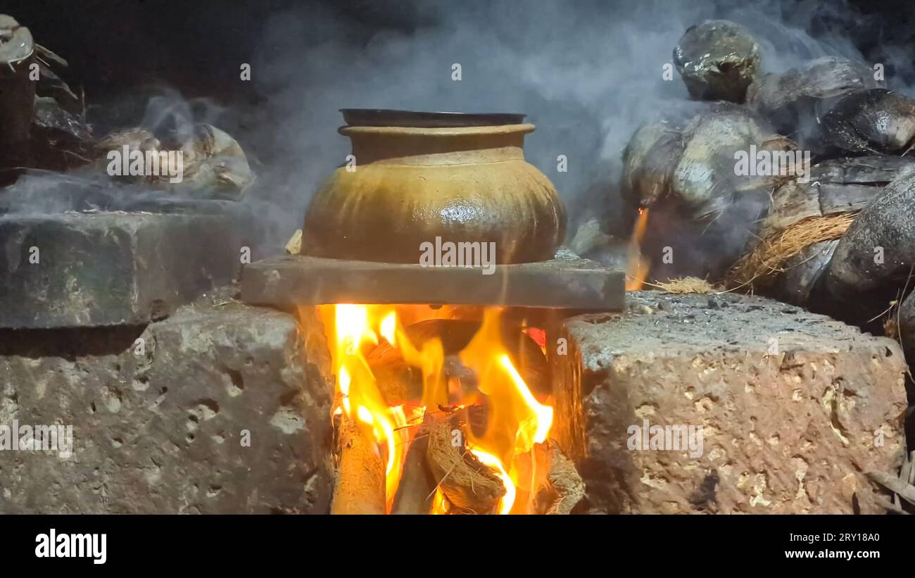
[[[759,45],[745,27],[709,20],[686,30],[673,62],[695,100],[744,102],[759,70]]]

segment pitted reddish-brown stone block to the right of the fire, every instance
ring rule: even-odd
[[[557,384],[554,434],[586,481],[585,509],[883,511],[864,474],[903,452],[896,342],[760,297],[627,298],[621,316],[565,323],[576,362]],[[630,450],[643,420],[702,426],[703,453]]]

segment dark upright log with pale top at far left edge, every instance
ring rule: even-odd
[[[27,163],[35,106],[35,80],[29,68],[34,62],[35,44],[28,28],[0,14],[0,168]],[[0,179],[9,177],[0,173]]]

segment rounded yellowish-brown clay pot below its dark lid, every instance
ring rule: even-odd
[[[495,242],[495,262],[552,259],[565,209],[524,160],[533,124],[344,126],[355,166],[312,198],[302,253],[419,262],[424,242]]]

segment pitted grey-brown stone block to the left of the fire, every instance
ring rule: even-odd
[[[6,331],[0,424],[71,424],[73,455],[0,452],[0,513],[327,512],[318,333],[225,295],[133,332]]]

